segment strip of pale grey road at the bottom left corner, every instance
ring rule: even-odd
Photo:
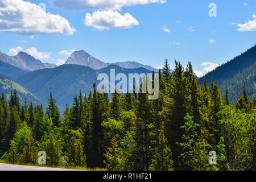
[[[0,163],[0,171],[74,171],[74,170],[61,169],[61,168],[49,168],[49,167],[21,166],[21,165]]]

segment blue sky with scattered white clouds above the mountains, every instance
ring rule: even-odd
[[[11,6],[11,1],[0,0],[0,7],[6,7],[6,3]],[[21,22],[12,30],[1,24],[10,9],[6,8],[2,16],[0,10],[0,51],[14,55],[21,50],[43,62],[60,63],[68,58],[61,51],[84,49],[104,62],[138,61],[155,68],[161,67],[167,57],[171,68],[174,59],[184,66],[191,61],[201,75],[256,44],[256,0],[127,0],[121,5],[109,0],[98,5],[89,0],[79,5],[76,1],[31,0],[36,5],[45,3],[48,14],[60,16],[54,22],[53,16],[35,11],[37,15],[31,13],[31,18],[18,18]],[[216,4],[217,16],[209,16],[210,3]],[[18,11],[26,14],[24,11],[34,8],[26,6]],[[109,22],[119,17],[119,24],[105,22],[102,16],[108,15]],[[26,28],[24,24],[30,21],[34,24]]]

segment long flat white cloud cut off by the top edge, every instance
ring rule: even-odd
[[[125,6],[163,4],[166,0],[51,0],[53,5],[66,10],[121,10]]]

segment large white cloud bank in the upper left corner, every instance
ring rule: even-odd
[[[23,0],[1,0],[0,31],[30,35],[73,35],[76,30],[67,19],[59,14],[46,13],[35,3]]]

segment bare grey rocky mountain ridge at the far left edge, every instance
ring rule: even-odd
[[[19,52],[16,56],[8,56],[0,52],[0,60],[27,71],[57,67],[55,64],[42,63],[42,61],[35,59],[35,57],[28,55],[26,52]]]

